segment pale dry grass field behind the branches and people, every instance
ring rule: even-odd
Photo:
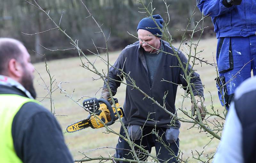
[[[196,43],[196,42],[195,42]],[[216,43],[217,39],[203,39],[199,43],[199,49],[204,51],[200,54],[201,58],[205,58],[210,63],[213,63],[213,59],[215,60],[216,53]],[[178,46],[178,44],[174,44],[174,46]],[[113,64],[116,58],[119,55],[118,52],[110,53],[110,63]],[[102,54],[104,56],[104,54]],[[88,57],[91,61],[94,61],[96,56],[90,55]],[[60,81],[65,81],[68,83],[63,83],[62,87],[68,92],[69,95],[72,94],[73,90],[73,99],[78,100],[82,96],[90,96],[90,97],[100,97],[100,92],[103,85],[102,80],[92,80],[92,78],[97,79],[97,75],[92,72],[82,68],[80,66],[81,61],[79,57],[61,59],[61,60],[53,60],[47,62],[51,75],[54,75],[57,84]],[[106,71],[106,65],[98,58],[95,62],[96,67],[99,71],[102,69]],[[45,70],[44,63],[35,64],[36,70],[40,73],[44,81],[49,85],[49,76]],[[200,74],[202,82],[205,86],[204,89],[204,97],[205,104],[208,108],[211,107],[211,96],[213,100],[213,106],[215,109],[219,109],[221,112],[224,109],[221,107],[218,96],[217,89],[215,86],[214,78],[216,77],[216,71],[214,66],[206,65],[203,63],[201,65],[196,65],[195,68],[197,72]],[[47,94],[47,91],[44,89],[43,81],[40,79],[39,75],[35,72],[35,81],[34,85],[36,87],[36,91],[38,97],[44,97]],[[99,91],[100,90],[100,91]],[[178,90],[178,95],[176,97],[176,108],[179,108],[182,101],[182,94],[184,93],[183,89]],[[119,99],[119,103],[122,105],[124,103],[124,95],[125,95],[125,85],[121,85],[116,94],[116,98]],[[65,94],[60,94],[60,90],[56,90],[53,95],[56,115],[66,115],[66,116],[56,116],[59,121],[62,131],[66,131],[66,126],[68,124],[72,124],[78,120],[82,120],[88,116],[88,112],[84,111],[83,108],[79,107],[76,103],[74,103],[71,99],[65,96]],[[40,100],[41,98],[37,98]],[[79,103],[82,104],[83,100],[80,100]],[[44,99],[41,102],[45,107],[50,108],[49,99]],[[189,100],[185,100],[184,107],[188,110],[191,107],[191,102]],[[179,116],[183,116],[179,114]],[[180,150],[184,153],[184,157],[191,157],[191,151],[195,150],[201,152],[204,151],[204,155],[215,152],[217,145],[219,144],[218,139],[213,139],[205,148],[203,148],[209,141],[209,134],[205,132],[199,132],[197,129],[189,129],[191,124],[182,123],[180,128]],[[116,122],[111,126],[115,131],[119,131],[120,123]],[[114,154],[115,150],[113,149],[116,146],[118,136],[110,133],[105,134],[104,128],[101,129],[92,129],[87,128],[81,131],[77,131],[74,133],[64,133],[65,141],[68,144],[68,148],[71,151],[74,159],[82,159],[84,155],[79,152],[86,152],[88,157],[97,157],[97,156],[108,156],[108,154]],[[96,148],[100,147],[113,147],[113,148],[105,148],[94,151]],[[87,152],[89,151],[89,152]],[[154,150],[153,150],[154,152]],[[191,162],[197,162],[195,159],[190,159]],[[93,162],[93,161],[92,161]]]

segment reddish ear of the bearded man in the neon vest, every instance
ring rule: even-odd
[[[10,77],[20,79],[23,73],[23,68],[21,63],[13,58],[8,63],[8,71]]]

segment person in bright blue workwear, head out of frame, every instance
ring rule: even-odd
[[[235,89],[256,74],[256,0],[196,0],[197,7],[212,17],[218,39],[215,79],[222,106],[228,109]]]

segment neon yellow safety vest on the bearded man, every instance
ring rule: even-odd
[[[12,139],[12,121],[23,104],[39,103],[36,100],[13,94],[0,95],[0,158],[4,163],[20,163],[16,155]]]

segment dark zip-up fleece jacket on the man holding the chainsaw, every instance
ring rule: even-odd
[[[164,52],[175,54],[167,42],[163,40],[161,41],[164,44]],[[142,48],[140,48],[139,41],[126,46],[117,58],[113,67],[110,67],[109,69],[109,85],[113,95],[116,94],[117,88],[120,86],[120,82],[118,81],[123,80],[124,76],[120,71],[120,69],[123,69],[126,74],[130,75],[137,87],[150,97],[154,98],[154,100],[161,106],[164,104],[168,111],[175,114],[176,109],[174,104],[178,87],[177,84],[182,84],[182,86],[186,87],[188,83],[184,79],[185,74],[181,67],[179,67],[180,64],[177,57],[167,53],[162,53],[162,58],[156,69],[152,87],[150,87],[145,56],[142,52]],[[185,67],[188,62],[187,58],[180,51],[178,52],[178,56],[183,63],[183,67]],[[189,65],[188,71],[191,71],[191,65]],[[199,74],[194,72],[192,76],[191,83],[194,83],[194,87],[192,87],[193,94],[195,96],[204,96]],[[118,81],[113,81],[111,79]],[[128,77],[126,83],[132,85],[131,79]],[[162,81],[163,79],[171,81],[172,83]],[[104,84],[104,87],[106,87],[106,84]],[[163,100],[165,94],[167,95],[165,100]],[[146,126],[155,126],[156,124],[157,127],[170,127],[170,122],[172,120],[172,116],[154,104],[150,99],[145,98],[145,95],[138,89],[133,89],[133,87],[129,85],[126,87],[124,115],[125,117],[123,118],[123,121],[126,125],[145,124]],[[180,122],[176,120],[175,124],[172,124],[172,127],[180,128]]]

